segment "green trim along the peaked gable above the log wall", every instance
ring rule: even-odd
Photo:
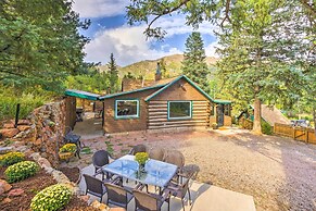
[[[173,86],[176,82],[178,82],[179,79],[185,78],[191,86],[193,86],[195,89],[198,89],[204,97],[206,97],[210,101],[215,102],[217,104],[230,104],[231,101],[228,100],[214,100],[213,98],[211,98],[203,89],[201,89],[198,85],[195,85],[190,78],[188,78],[186,75],[181,75],[179,77],[177,77],[176,79],[174,79],[172,83],[167,84],[166,86],[164,86],[163,88],[161,88],[160,90],[155,91],[154,94],[150,95],[149,97],[147,97],[144,99],[146,102],[150,101],[151,99],[153,99],[154,97],[156,97],[157,95],[160,95],[161,92],[163,92],[165,89],[167,89],[168,87]]]

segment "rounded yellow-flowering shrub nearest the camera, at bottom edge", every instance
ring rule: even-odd
[[[72,191],[64,185],[52,185],[39,191],[30,202],[33,211],[54,211],[71,200]]]

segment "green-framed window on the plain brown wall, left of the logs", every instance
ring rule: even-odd
[[[139,100],[116,100],[115,117],[116,119],[139,117]]]

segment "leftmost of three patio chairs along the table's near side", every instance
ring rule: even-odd
[[[101,179],[99,179],[94,176],[90,176],[88,174],[83,174],[83,176],[85,177],[85,182],[87,185],[85,195],[90,194],[90,195],[93,195],[96,197],[99,197],[100,202],[102,202],[102,198],[103,198],[104,194],[106,193],[106,188],[104,186],[104,183]]]

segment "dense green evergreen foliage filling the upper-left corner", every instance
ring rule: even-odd
[[[0,83],[23,90],[62,91],[68,74],[85,67],[80,22],[64,0],[0,1]]]

